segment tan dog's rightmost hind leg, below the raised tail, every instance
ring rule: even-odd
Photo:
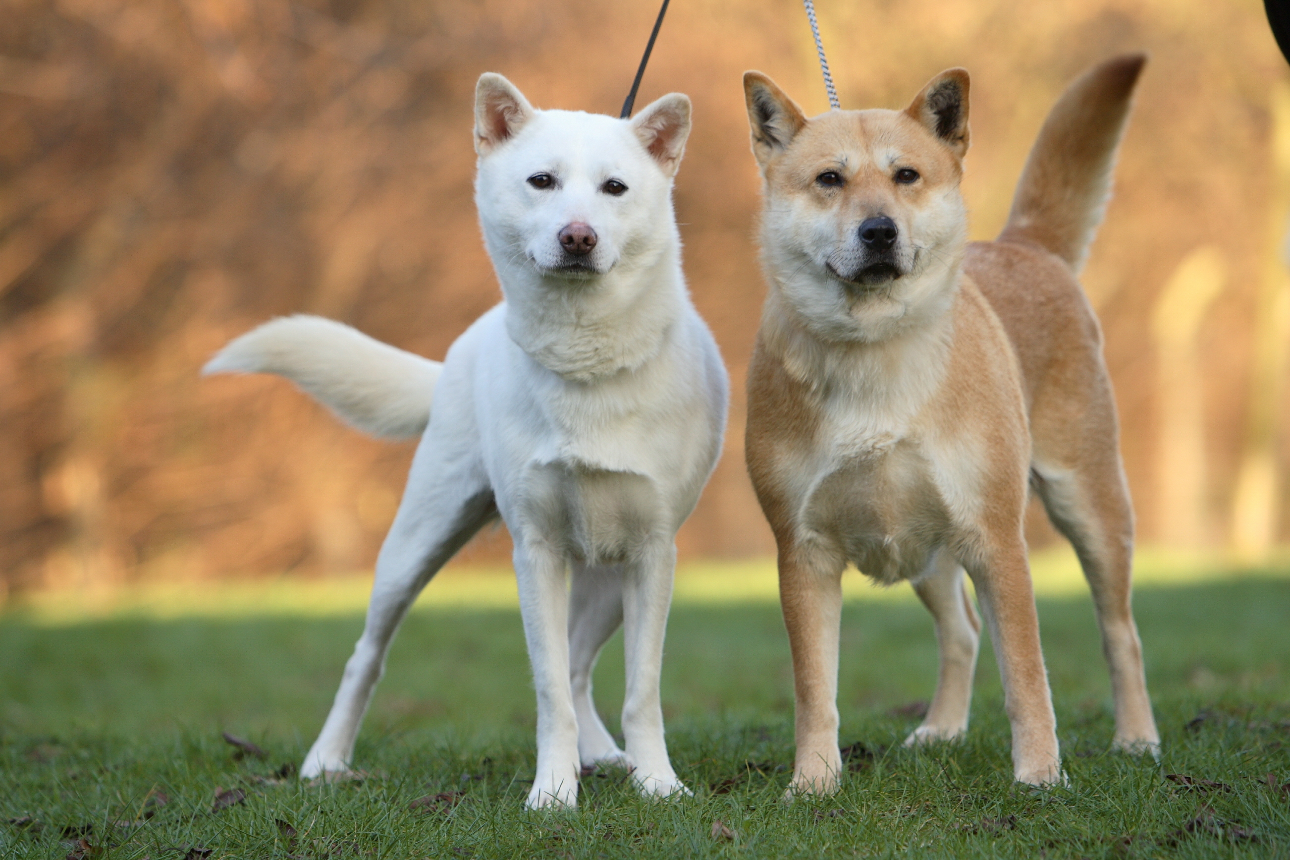
[[[1116,708],[1113,745],[1131,753],[1158,754],[1160,732],[1151,713],[1142,642],[1133,620],[1133,507],[1118,457],[1073,470],[1036,464],[1035,470],[1040,498],[1054,526],[1075,546],[1093,590],[1102,650],[1111,668]]]

